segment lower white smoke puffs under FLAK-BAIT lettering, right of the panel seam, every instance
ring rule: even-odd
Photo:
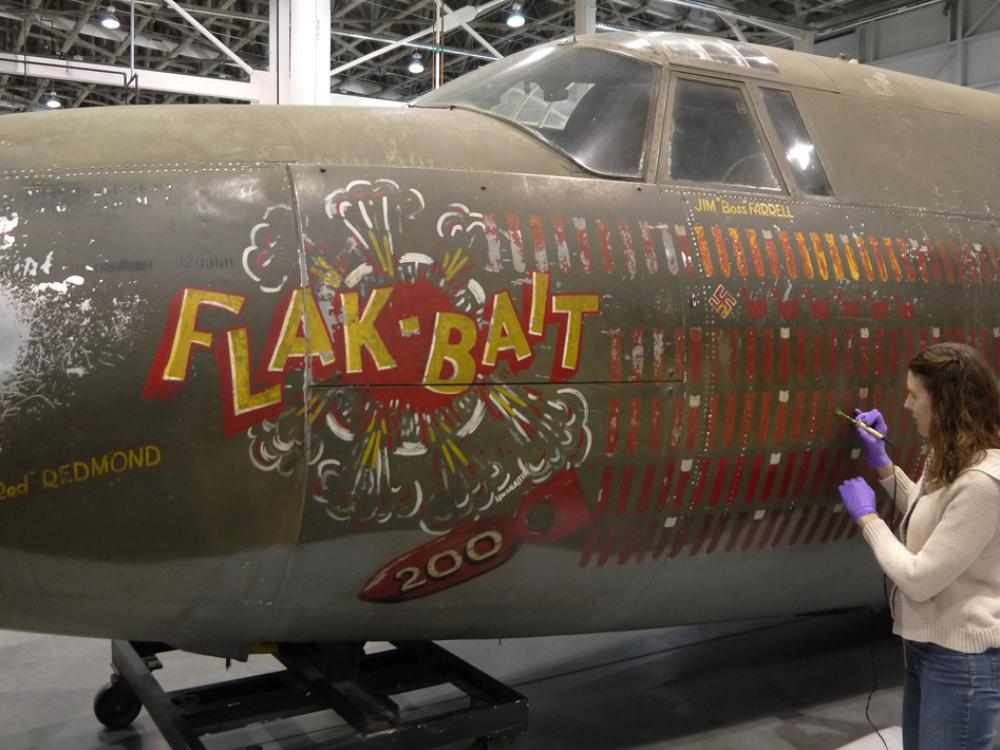
[[[370,404],[351,390],[338,389],[331,396],[331,411],[344,423],[364,422]],[[489,417],[494,431],[477,434],[485,423],[485,409],[476,393],[467,392],[454,404],[456,413],[470,415],[453,438],[470,470],[446,468],[441,460],[446,449],[423,442],[420,415],[399,417],[394,443],[398,447],[380,445],[377,459],[371,457],[363,437],[338,423],[336,431],[314,433],[313,440],[323,441],[323,453],[329,458],[319,464],[319,491],[313,498],[337,521],[385,523],[411,518],[420,510],[427,524],[441,531],[485,513],[511,495],[530,491],[558,471],[584,463],[592,437],[587,402],[578,390],[560,388],[545,398],[517,386],[488,390],[496,391],[490,398],[499,406],[495,411],[503,415],[499,435],[494,417]],[[515,483],[518,486],[512,488]]]

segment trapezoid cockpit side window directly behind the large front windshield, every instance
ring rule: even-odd
[[[743,92],[679,79],[674,97],[670,175],[677,180],[780,190]]]

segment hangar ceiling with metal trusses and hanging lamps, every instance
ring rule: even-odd
[[[933,0],[948,12],[958,0]],[[485,0],[469,0],[482,6]],[[451,0],[457,9],[463,0]],[[514,2],[497,5],[458,26],[441,40],[446,80],[492,59],[488,46],[503,55],[571,34],[580,0],[525,0],[525,23],[512,28],[507,19]],[[597,0],[598,28],[678,30],[792,46],[781,26],[806,30],[817,39],[928,5],[927,0]],[[440,0],[334,0],[331,10],[331,68],[357,61],[388,42],[410,37],[440,21]],[[227,81],[248,74],[213,46],[181,11],[190,14],[223,45],[256,70],[269,65],[271,17],[266,0],[135,0],[135,44],[130,43],[130,3],[113,0],[121,23],[102,25],[109,0],[0,1],[0,113],[42,108],[52,94],[64,107],[139,103],[224,101],[218,97],[162,91],[129,90],[124,85],[65,80],[68,67],[115,65],[181,73]],[[721,14],[716,10],[726,11]],[[479,38],[477,39],[476,36]],[[486,42],[484,44],[483,42]],[[331,78],[331,91],[383,99],[408,100],[432,86],[427,36],[392,52],[359,62]],[[424,71],[409,70],[418,53]],[[19,70],[23,56],[38,65]],[[40,59],[39,59],[40,58]],[[51,70],[53,75],[45,77]],[[24,75],[27,72],[29,75]],[[123,81],[124,84],[124,81]],[[228,101],[230,99],[226,99]]]

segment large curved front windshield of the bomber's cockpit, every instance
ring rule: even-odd
[[[415,106],[501,117],[591,171],[640,177],[658,70],[601,49],[553,45],[480,68]]]

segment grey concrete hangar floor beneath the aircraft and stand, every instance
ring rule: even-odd
[[[884,632],[870,613],[845,613],[442,645],[530,699],[529,731],[491,744],[502,750],[835,750],[872,733],[873,663],[871,718],[881,729],[900,722],[900,646]],[[109,660],[106,642],[0,632],[0,749],[168,750],[145,712],[128,731],[104,730],[93,717]],[[157,676],[168,690],[276,667],[268,657],[228,672],[218,659],[163,660]],[[332,714],[315,714],[205,744],[300,750],[343,732]],[[900,747],[898,730],[886,740]],[[851,750],[882,747],[872,736]]]

